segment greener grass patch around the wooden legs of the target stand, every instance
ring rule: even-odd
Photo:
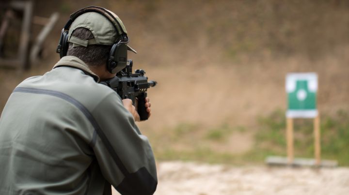
[[[337,160],[339,165],[349,165],[348,116],[348,111],[341,110],[333,117],[320,117],[322,159]],[[261,117],[259,123],[260,130],[255,135],[255,152],[286,155],[285,112],[277,110],[268,117]],[[294,134],[296,157],[314,158],[313,120],[295,119]]]

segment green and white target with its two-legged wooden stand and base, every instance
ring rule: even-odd
[[[269,165],[290,166],[337,166],[336,161],[321,160],[320,116],[317,110],[317,74],[290,73],[286,75],[287,112],[286,112],[286,151],[287,157],[269,156]],[[314,120],[314,159],[295,158],[294,119]]]

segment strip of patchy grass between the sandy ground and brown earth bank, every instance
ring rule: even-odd
[[[349,166],[349,111],[339,110],[334,117],[321,116],[321,158],[337,160]],[[268,155],[286,156],[286,117],[284,110],[275,110],[260,117],[251,150],[236,154],[229,151],[228,137],[236,132],[246,133],[244,127],[226,123],[216,128],[194,124],[179,124],[174,129],[150,136],[159,160],[203,161],[234,165],[264,163]],[[312,119],[294,120],[295,156],[314,158]],[[221,145],[220,148],[212,144]],[[228,148],[226,148],[228,147]],[[225,150],[227,149],[227,150]]]

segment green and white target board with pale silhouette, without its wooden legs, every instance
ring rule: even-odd
[[[286,75],[288,118],[317,117],[317,74],[290,73]]]

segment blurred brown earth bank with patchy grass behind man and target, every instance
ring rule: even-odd
[[[60,17],[42,60],[25,71],[0,69],[0,110],[18,83],[59,60],[69,15],[96,5],[122,19],[138,51],[129,53],[135,69],[159,83],[148,92],[152,117],[139,123],[159,162],[254,165],[286,156],[285,76],[315,72],[322,157],[349,165],[349,1],[33,2],[33,15]],[[295,155],[313,152],[313,121],[295,120]]]

